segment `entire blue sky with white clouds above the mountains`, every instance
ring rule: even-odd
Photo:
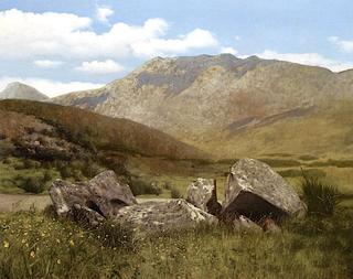
[[[156,56],[353,68],[351,0],[0,0],[0,90],[100,87]]]

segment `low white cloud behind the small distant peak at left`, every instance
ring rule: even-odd
[[[0,92],[3,90],[9,83],[13,83],[13,82],[28,84],[50,97],[55,97],[55,96],[63,95],[71,92],[99,88],[104,86],[103,84],[95,84],[95,83],[82,83],[82,82],[63,83],[58,81],[43,79],[43,78],[36,78],[36,77],[25,77],[25,78],[0,77]]]

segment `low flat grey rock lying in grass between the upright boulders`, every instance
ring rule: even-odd
[[[197,224],[217,224],[217,218],[185,200],[147,202],[121,208],[114,222],[132,228],[136,237],[156,236]]]

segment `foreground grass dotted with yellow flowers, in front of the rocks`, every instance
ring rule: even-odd
[[[280,234],[199,227],[136,243],[38,213],[0,215],[0,278],[352,278],[353,214],[288,222]],[[103,232],[103,233],[101,233]],[[108,232],[108,233],[107,233]]]

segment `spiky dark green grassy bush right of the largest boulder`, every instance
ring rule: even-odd
[[[304,173],[302,192],[308,213],[312,215],[332,215],[341,200],[336,186],[324,184],[317,178],[307,176]]]

